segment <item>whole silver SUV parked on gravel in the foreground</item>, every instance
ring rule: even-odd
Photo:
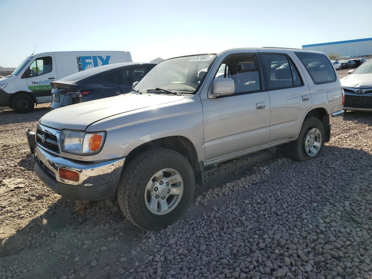
[[[295,160],[318,157],[342,100],[321,52],[230,49],[164,60],[128,94],[47,113],[28,138],[56,193],[117,193],[131,222],[157,230],[186,212],[206,166],[279,144]]]

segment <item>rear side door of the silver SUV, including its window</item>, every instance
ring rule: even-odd
[[[299,67],[288,53],[260,50],[271,104],[269,144],[297,137],[312,100]]]

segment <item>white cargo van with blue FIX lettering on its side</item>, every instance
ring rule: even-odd
[[[43,52],[27,57],[11,75],[0,78],[0,106],[19,113],[52,101],[51,81],[89,68],[132,62],[128,51]]]

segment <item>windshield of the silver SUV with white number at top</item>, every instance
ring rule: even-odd
[[[164,60],[142,78],[135,90],[146,93],[148,89],[161,88],[195,93],[216,56],[205,54]]]

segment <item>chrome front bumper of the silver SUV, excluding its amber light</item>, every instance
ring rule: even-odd
[[[35,173],[46,186],[68,199],[96,201],[115,195],[125,157],[100,162],[83,162],[35,149]],[[79,181],[61,179],[58,169],[79,173]]]

